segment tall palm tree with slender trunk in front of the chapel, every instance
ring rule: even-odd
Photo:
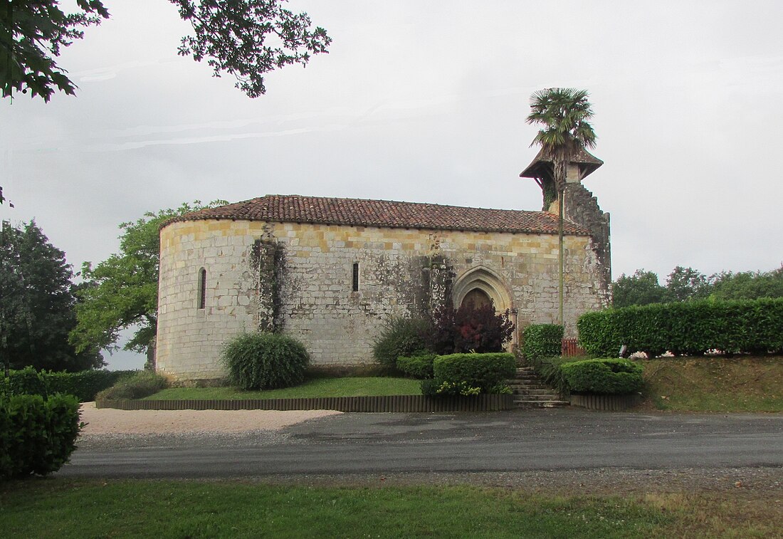
[[[593,110],[587,100],[586,90],[574,88],[547,88],[530,96],[529,124],[539,124],[536,138],[530,146],[538,144],[552,160],[552,179],[557,189],[557,213],[559,214],[560,244],[560,300],[559,317],[563,325],[563,192],[568,174],[568,164],[582,148],[595,146],[595,132],[590,125]]]

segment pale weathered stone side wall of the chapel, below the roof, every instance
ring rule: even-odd
[[[594,248],[590,237],[565,238],[566,335],[576,335],[579,314],[606,302]],[[198,309],[202,267],[207,298]],[[161,230],[157,367],[177,380],[221,378],[222,343],[256,327],[300,339],[316,365],[370,363],[385,320],[452,302],[473,283],[517,309],[519,327],[553,323],[557,236],[174,222]]]

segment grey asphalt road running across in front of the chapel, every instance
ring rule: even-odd
[[[282,433],[88,440],[57,475],[239,478],[783,467],[783,414],[340,414]]]

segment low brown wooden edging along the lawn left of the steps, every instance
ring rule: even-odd
[[[511,410],[513,395],[431,397],[327,396],[306,399],[97,400],[98,408],[120,410],[337,410],[341,412],[481,412]]]

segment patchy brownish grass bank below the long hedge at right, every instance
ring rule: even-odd
[[[704,412],[783,411],[783,357],[642,360],[648,405]]]

